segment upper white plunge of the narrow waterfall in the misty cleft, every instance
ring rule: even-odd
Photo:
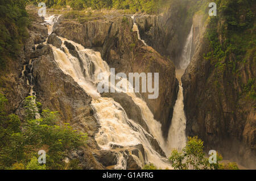
[[[191,31],[189,32],[189,35],[187,37],[185,47],[183,48],[182,53],[181,53],[181,59],[180,59],[180,68],[181,69],[186,69],[191,60],[192,40],[193,40],[193,25],[192,25]]]

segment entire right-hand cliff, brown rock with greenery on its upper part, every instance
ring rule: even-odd
[[[208,19],[182,77],[186,130],[202,138],[206,150],[255,169],[255,22],[246,15],[255,10],[246,2],[226,3]],[[234,27],[226,13],[238,7]]]

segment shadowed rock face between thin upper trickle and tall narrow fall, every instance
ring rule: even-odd
[[[170,57],[179,68],[179,58],[185,40],[191,30],[191,18],[187,17],[187,6],[176,1],[161,15],[137,15],[141,38],[160,54]]]

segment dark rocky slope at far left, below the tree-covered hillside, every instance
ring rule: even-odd
[[[36,18],[31,23],[28,29],[29,37],[24,42],[24,47],[20,49],[19,56],[7,60],[8,64],[6,64],[5,70],[0,71],[0,92],[8,99],[6,112],[16,113],[19,117],[22,117],[22,102],[30,92],[30,86],[27,85],[22,75],[23,65],[28,65],[28,62],[34,57],[32,54],[40,54],[40,52],[34,51],[35,44],[43,43],[48,36],[47,28],[40,24],[42,21],[42,19]]]

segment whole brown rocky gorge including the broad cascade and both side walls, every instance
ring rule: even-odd
[[[33,12],[36,18],[28,28],[30,37],[19,61],[10,60],[1,74],[1,87],[5,87],[1,92],[10,102],[8,112],[22,118],[22,104],[30,94],[43,108],[59,111],[61,123],[88,134],[86,146],[67,155],[69,160],[79,159],[82,169],[142,169],[149,162],[163,168],[171,165],[168,136],[179,91],[183,91],[185,136],[199,136],[206,152],[220,151],[226,159],[255,169],[255,99],[245,92],[255,78],[255,48],[247,49],[245,63],[236,63],[239,74],[220,69],[213,57],[207,58],[213,49],[210,18],[199,12],[188,15],[188,10],[177,4],[158,15],[110,12],[95,19],[93,14],[86,15],[85,21],[65,14],[40,18]],[[134,24],[146,45],[133,31]],[[222,45],[228,39],[220,31],[224,24],[220,19],[216,26]],[[181,77],[176,73],[189,31],[190,64]],[[236,58],[230,53],[221,63],[228,67]],[[125,74],[159,72],[159,97],[122,92],[96,98],[93,89],[82,83],[97,85],[97,72],[109,68]],[[111,136],[112,131],[120,138]],[[133,144],[123,144],[125,137]]]

